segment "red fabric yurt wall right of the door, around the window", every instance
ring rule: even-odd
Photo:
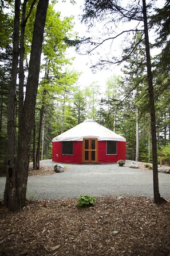
[[[117,155],[106,155],[106,141],[98,142],[98,163],[116,163],[126,160],[126,142],[117,142]]]

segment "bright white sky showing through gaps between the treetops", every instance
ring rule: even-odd
[[[65,2],[62,2],[62,0],[58,0],[58,3],[56,4],[56,11],[61,12],[61,17],[74,16],[74,21],[75,21],[74,31],[78,32],[78,36],[83,37],[86,35],[86,37],[90,37],[90,36],[94,37],[94,35],[91,35],[90,33],[86,32],[87,26],[81,23],[81,15],[83,13],[84,0],[76,0],[76,2],[77,2],[76,5],[73,5],[72,3],[70,3],[70,0],[65,0]],[[163,6],[163,4],[164,4],[164,0],[156,0],[157,7],[161,7]],[[136,26],[136,24],[133,24],[133,23],[131,25],[132,25],[131,28],[135,28]],[[95,28],[96,26],[97,24],[95,24]],[[100,25],[98,26],[98,28],[100,29]],[[106,29],[108,28],[105,28],[105,31]],[[122,32],[125,29],[125,24],[123,24],[122,27],[119,24],[117,29],[118,29],[118,32]],[[128,23],[128,29],[129,29],[129,23]],[[150,41],[152,41],[152,36],[153,36],[153,39],[155,39],[154,35],[149,34]],[[111,54],[112,56],[117,55],[118,52],[120,52],[119,49],[122,42],[114,40],[113,44],[114,45],[112,45],[112,49],[110,47],[110,43],[108,44],[108,49],[106,49],[107,47],[103,48],[101,50],[102,55],[104,55],[107,50],[110,55]],[[96,74],[93,74],[90,66],[92,66],[92,63],[97,62],[98,55],[96,54],[94,54],[93,56],[80,55],[75,52],[74,48],[69,48],[67,54],[68,54],[68,57],[73,57],[73,56],[75,57],[75,60],[73,61],[73,65],[70,66],[69,69],[82,72],[78,80],[78,84],[80,84],[80,86],[82,87],[86,85],[90,85],[93,82],[98,82],[98,84],[102,88],[102,87],[105,87],[106,80],[109,77],[111,77],[114,74],[115,75],[121,74],[121,67],[116,66],[115,64],[109,65],[108,70],[101,70],[101,71],[96,70]]]

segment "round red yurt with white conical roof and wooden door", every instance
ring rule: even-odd
[[[52,161],[58,163],[116,163],[126,158],[126,139],[87,119],[53,138]]]

